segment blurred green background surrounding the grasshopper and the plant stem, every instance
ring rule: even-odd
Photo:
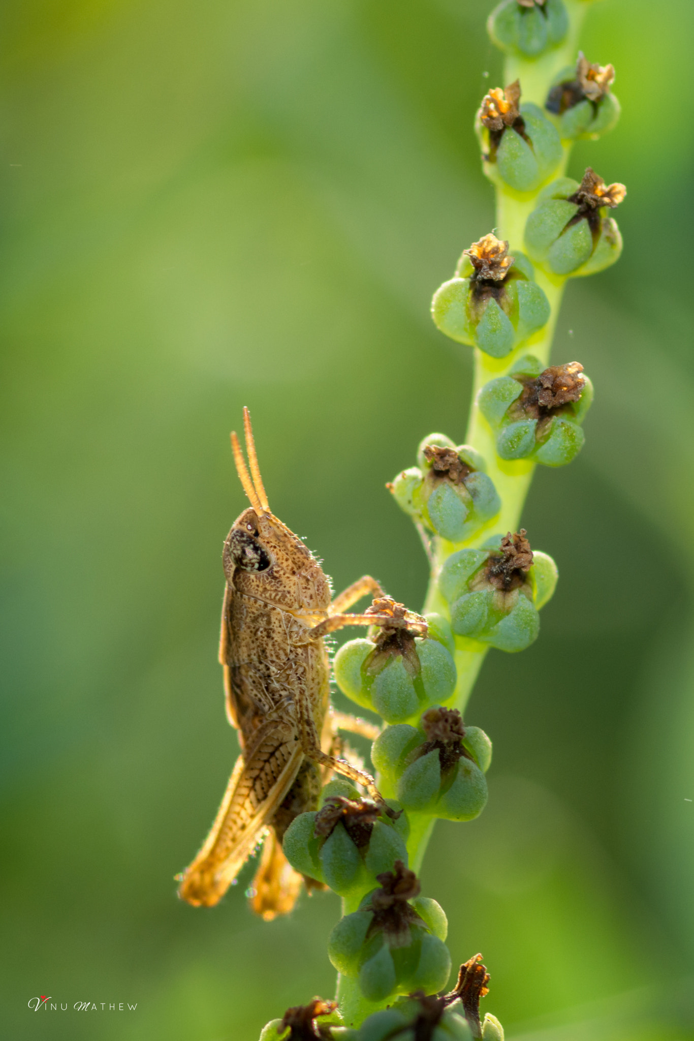
[[[420,605],[384,482],[464,435],[469,352],[428,307],[493,225],[490,7],[3,4],[3,1037],[255,1041],[332,993],[332,894],[262,923],[250,865],[213,911],[175,893],[237,747],[228,435],[248,404],[271,504],[338,589]],[[624,112],[571,172],[627,183],[625,251],[569,284],[555,358],[597,398],[525,511],[561,570],[541,638],[491,653],[467,713],[488,809],[423,868],[524,1041],[694,1038],[693,29],[691,0],[589,14]]]

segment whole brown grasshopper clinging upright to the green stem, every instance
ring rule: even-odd
[[[299,813],[316,808],[322,782],[341,773],[383,803],[370,775],[334,755],[337,727],[371,738],[379,730],[330,711],[324,637],[343,626],[392,627],[393,618],[377,605],[368,613],[344,613],[366,593],[383,595],[367,575],[332,600],[317,560],[269,510],[246,408],[243,427],[250,474],[235,433],[231,445],[251,507],[224,543],[220,643],[227,716],[239,732],[241,755],[202,849],[179,877],[179,895],[196,907],[215,905],[269,829],[252,907],[273,918],[291,910],[301,885],[282,853],[282,836]],[[407,615],[402,625],[426,632],[423,618]]]

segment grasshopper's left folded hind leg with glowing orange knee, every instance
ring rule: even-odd
[[[214,907],[262,837],[294,782],[304,754],[293,728],[275,719],[261,726],[236,760],[205,843],[181,877],[179,896]]]

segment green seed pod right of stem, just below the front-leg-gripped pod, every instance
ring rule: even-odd
[[[388,727],[371,760],[408,811],[472,820],[487,802],[491,741],[478,727],[464,727],[457,709],[428,709],[418,728]]]

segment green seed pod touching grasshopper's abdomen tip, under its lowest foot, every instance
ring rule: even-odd
[[[354,896],[372,889],[395,860],[407,864],[409,826],[396,803],[388,812],[341,780],[324,789],[323,803],[292,820],[284,836],[282,848],[295,871]]]

